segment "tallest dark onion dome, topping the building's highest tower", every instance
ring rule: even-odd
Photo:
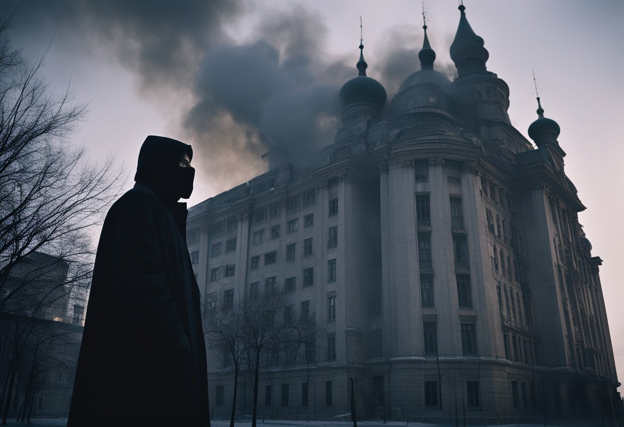
[[[485,71],[485,62],[490,57],[487,49],[483,47],[482,37],[477,36],[472,31],[472,27],[466,19],[465,10],[466,7],[463,4],[459,6],[461,12],[459,26],[451,44],[451,59],[455,62],[460,76],[465,72]]]

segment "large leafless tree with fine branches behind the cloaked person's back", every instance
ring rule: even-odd
[[[114,159],[90,164],[68,137],[85,118],[69,89],[54,96],[0,24],[0,390],[6,423],[16,381],[32,396],[34,371],[51,338],[41,320],[64,321],[70,297],[86,293],[94,260],[90,230],[119,195]],[[19,321],[18,321],[19,320]],[[50,349],[47,348],[47,354]],[[29,365],[30,364],[30,365]],[[19,374],[22,375],[19,375]]]

